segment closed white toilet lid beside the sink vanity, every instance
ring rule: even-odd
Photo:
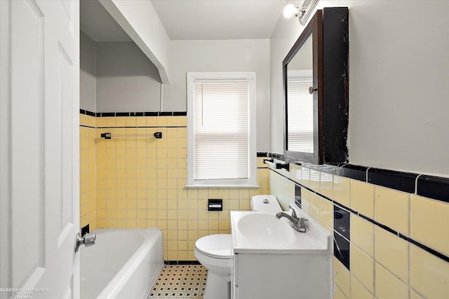
[[[208,235],[196,240],[196,249],[213,258],[232,258],[232,235]]]

